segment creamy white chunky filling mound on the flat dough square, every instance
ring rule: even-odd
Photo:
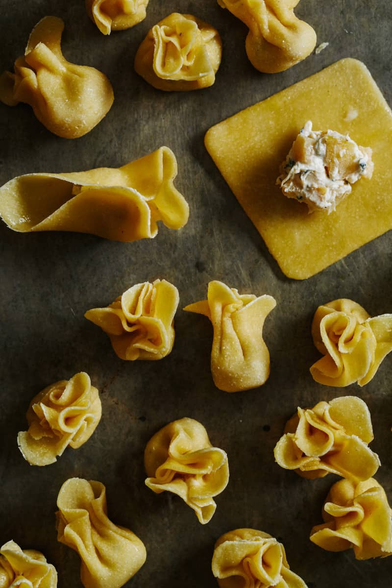
[[[286,161],[282,163],[282,173],[276,183],[281,186],[287,198],[306,203],[309,212],[320,209],[328,213],[334,211],[336,205],[350,194],[351,184],[362,176],[371,178],[371,149],[360,148],[349,135],[330,130],[312,131],[312,123],[307,121],[299,136],[309,139],[306,141],[306,156],[303,161],[297,161],[293,153],[294,142]],[[335,153],[333,165],[326,159],[329,138],[337,139],[341,143],[339,152]],[[342,173],[339,160],[347,156],[347,152],[350,153],[350,173],[344,173],[344,169]]]

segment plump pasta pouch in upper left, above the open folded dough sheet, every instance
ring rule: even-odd
[[[15,73],[0,76],[0,100],[8,106],[26,102],[46,128],[66,139],[85,135],[113,103],[113,89],[98,69],[70,64],[61,52],[64,23],[45,16],[33,28]]]

